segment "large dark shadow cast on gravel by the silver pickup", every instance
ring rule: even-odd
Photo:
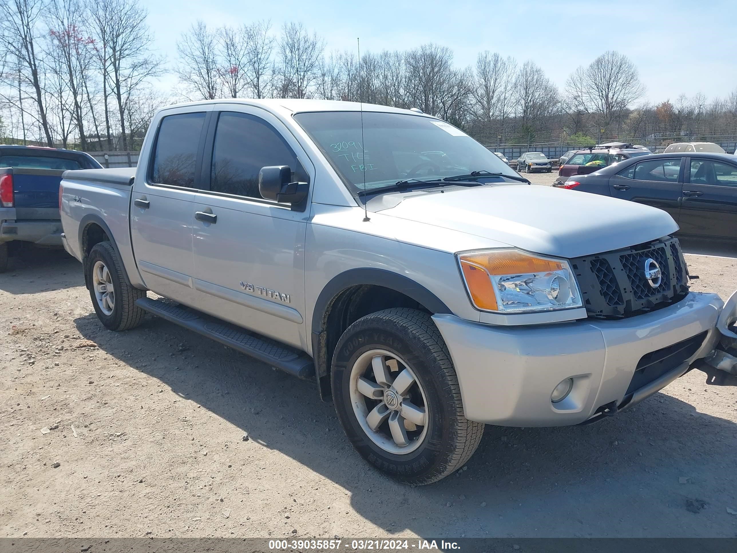
[[[74,322],[85,338],[114,358],[343,487],[357,515],[389,534],[410,530],[444,537],[587,537],[734,532],[733,518],[724,514],[723,505],[735,505],[737,499],[737,427],[730,420],[698,413],[668,394],[655,394],[595,425],[487,426],[464,470],[437,484],[413,488],[386,478],[360,459],[332,405],[319,400],[313,383],[276,372],[161,319],[147,317],[142,327],[127,333],[105,330],[94,313]],[[732,390],[707,386],[706,376],[697,371],[685,378],[694,398]],[[247,470],[241,475],[246,480],[254,476]],[[714,481],[721,484],[714,487]],[[715,509],[710,518],[699,517],[699,501]],[[321,524],[315,521],[311,530],[318,537],[324,533]]]

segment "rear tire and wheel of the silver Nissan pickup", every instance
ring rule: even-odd
[[[125,279],[125,269],[109,242],[99,242],[86,261],[87,282],[97,317],[110,330],[129,330],[142,323],[145,311],[136,299],[146,292],[133,288]]]

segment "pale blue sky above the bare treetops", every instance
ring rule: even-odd
[[[181,32],[195,20],[237,25],[270,19],[301,21],[326,49],[409,49],[436,42],[455,63],[475,63],[478,52],[531,59],[562,88],[576,66],[607,49],[629,56],[660,102],[684,92],[709,98],[737,88],[737,0],[614,1],[314,1],[142,0],[156,46],[170,63]],[[164,22],[160,24],[158,22]],[[162,86],[175,84],[166,77]]]

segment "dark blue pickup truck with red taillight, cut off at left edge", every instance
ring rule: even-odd
[[[70,169],[102,169],[75,150],[0,146],[0,273],[11,242],[62,246],[59,184]]]

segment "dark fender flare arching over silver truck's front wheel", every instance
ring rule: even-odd
[[[325,315],[330,305],[332,305],[333,300],[341,292],[352,286],[360,285],[377,285],[403,293],[433,314],[453,313],[438,296],[427,290],[425,286],[418,284],[402,274],[387,271],[386,269],[349,269],[330,279],[318,295],[315,308],[312,310],[311,319],[312,358],[315,360],[315,378],[318,380],[318,389],[323,400],[327,400],[330,396],[329,382],[326,382],[327,379],[324,378],[328,373],[328,367],[326,366],[326,331],[323,328]]]

